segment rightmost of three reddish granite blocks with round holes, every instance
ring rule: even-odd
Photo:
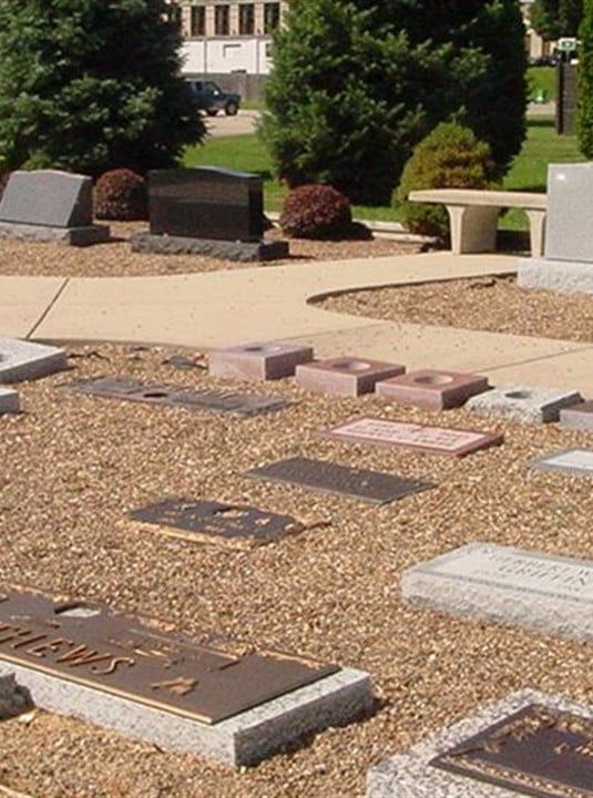
[[[429,410],[460,407],[477,393],[489,390],[488,377],[458,371],[410,371],[377,382],[375,390],[384,399],[415,405]]]

